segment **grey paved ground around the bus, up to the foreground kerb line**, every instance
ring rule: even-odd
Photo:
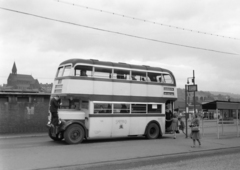
[[[213,126],[214,122],[205,124],[205,126],[207,125],[208,127],[204,128],[204,134],[202,133],[203,130],[201,130],[201,147],[195,148],[191,148],[193,144],[192,140],[186,138],[183,133],[177,134],[176,139],[173,138],[172,134],[164,134],[161,139],[154,140],[145,140],[143,138],[139,140],[138,138],[101,139],[83,141],[79,145],[62,145],[62,142],[55,144],[51,142],[47,133],[0,134],[0,142],[5,143],[4,146],[8,146],[6,144],[8,141],[14,143],[14,139],[22,138],[19,140],[21,141],[19,147],[15,146],[15,149],[2,148],[2,163],[4,163],[2,166],[7,167],[2,169],[51,169],[51,167],[56,166],[63,168],[73,166],[84,167],[100,165],[102,163],[121,163],[124,161],[159,157],[181,157],[182,155],[192,155],[194,153],[240,148],[240,137],[237,136],[236,126],[219,128],[221,133],[220,138],[218,138],[217,129]],[[188,132],[190,132],[190,129]],[[41,141],[44,144],[37,143],[26,149],[29,143],[25,142],[25,139],[27,141],[31,138],[36,138],[35,141]],[[51,151],[53,150],[54,152],[52,153]],[[23,154],[24,157],[22,157]],[[49,159],[50,154],[58,156],[54,157],[52,161]],[[68,155],[68,159],[66,159],[66,155]],[[12,160],[14,160],[14,164]],[[34,162],[34,164],[29,164],[29,162]]]

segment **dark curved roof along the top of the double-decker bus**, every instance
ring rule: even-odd
[[[113,63],[113,62],[108,62],[108,61],[99,61],[99,60],[95,60],[95,59],[69,59],[66,61],[63,61],[60,65],[63,64],[72,64],[73,66],[75,66],[75,64],[77,63],[85,63],[85,64],[93,64],[93,65],[103,65],[103,66],[115,66],[115,67],[123,67],[123,68],[133,68],[133,69],[141,69],[141,70],[151,70],[151,71],[160,71],[160,72],[168,72],[171,75],[172,72],[167,70],[167,69],[163,69],[160,67],[151,67],[151,66],[145,66],[145,65],[133,65],[133,64],[127,64],[127,63]]]

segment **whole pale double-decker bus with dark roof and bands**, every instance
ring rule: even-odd
[[[165,133],[165,106],[177,99],[171,71],[158,67],[93,59],[62,62],[51,96],[60,96],[61,123],[49,129],[53,140],[68,144],[84,139]]]

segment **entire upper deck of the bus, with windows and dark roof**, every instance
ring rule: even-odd
[[[70,59],[58,67],[52,94],[98,101],[163,102],[177,99],[171,71],[126,63]]]

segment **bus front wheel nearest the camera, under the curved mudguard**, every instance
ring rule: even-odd
[[[84,129],[80,125],[70,125],[64,132],[65,141],[68,144],[81,143],[84,138]]]

